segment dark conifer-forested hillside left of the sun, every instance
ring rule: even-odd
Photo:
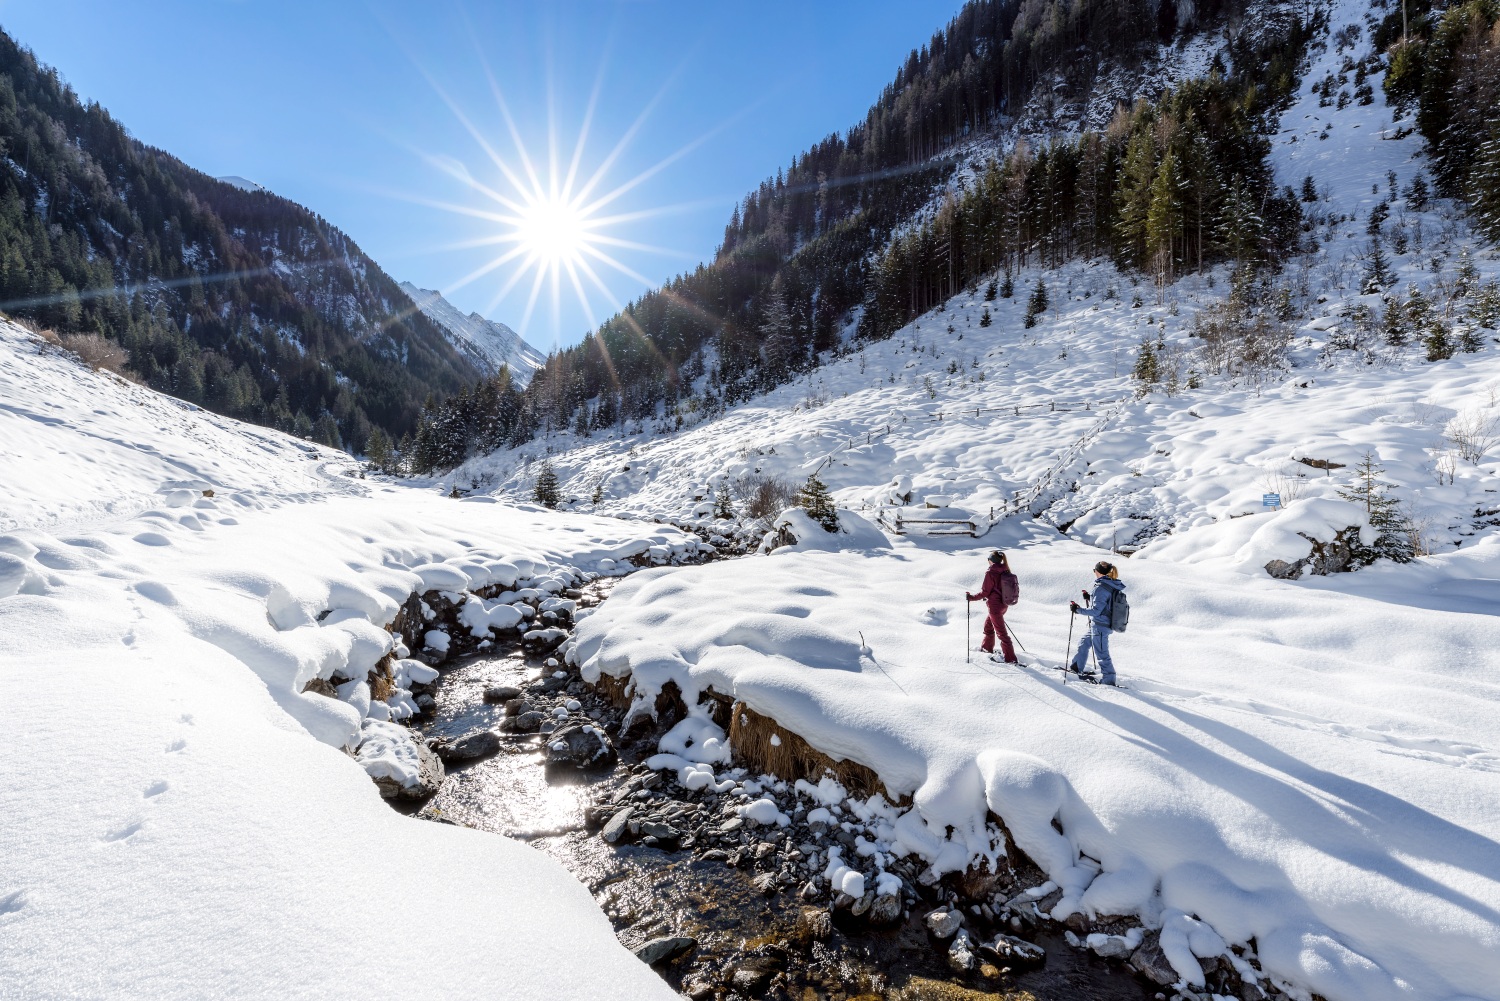
[[[478,372],[354,242],[134,140],[0,33],[0,311],[153,389],[363,449]]]

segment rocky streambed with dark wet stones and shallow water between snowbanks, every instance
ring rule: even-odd
[[[584,587],[576,606],[597,605],[612,584]],[[558,617],[560,632],[568,620]],[[645,759],[675,722],[672,707],[657,720],[638,716],[622,734],[624,708],[554,656],[552,641],[530,650],[496,641],[444,668],[416,725],[447,774],[434,797],[405,809],[554,855],[596,896],[621,942],[684,995],[1191,996],[1161,986],[1176,977],[1160,951],[1137,948],[1126,921],[1070,929],[1042,917],[1056,891],[1024,861],[938,881],[896,860],[898,885],[843,884],[858,896],[830,885],[838,857],[858,851],[858,827],[828,803],[826,785],[734,768],[716,786],[688,789],[674,771],[652,771]],[[784,825],[746,809],[765,798],[786,810]],[[1088,948],[1080,932],[1119,939],[1116,957]],[[1238,993],[1238,977],[1221,986]]]

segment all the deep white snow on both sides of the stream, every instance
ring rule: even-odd
[[[1332,29],[1364,11],[1335,8]],[[1190,986],[1197,957],[1234,945],[1298,998],[1500,1001],[1500,534],[1485,513],[1500,449],[1455,461],[1450,441],[1455,420],[1500,416],[1500,348],[1485,332],[1479,353],[1437,363],[1419,347],[1328,350],[1360,302],[1388,171],[1404,189],[1425,170],[1418,138],[1383,138],[1378,99],[1318,107],[1311,87],[1342,56],[1316,59],[1275,162],[1328,192],[1310,212],[1353,219],[1320,222],[1320,249],[1282,273],[1294,366],[1260,384],[1204,375],[1137,398],[1140,342],[1191,350],[1228,276],[1156,290],[1086,261],[1046,273],[1054,308],[1029,330],[1036,270],[1012,299],[957,296],[714,423],[556,435],[392,483],[0,323],[0,680],[15,705],[0,998],[672,996],[558,864],[381,801],[372,774],[414,780],[390,722],[405,692],[304,689],[393,651],[381,626],[414,590],[556,591],[650,546],[690,554],[693,536],[651,519],[728,531],[712,489],[819,470],[855,531],[640,572],[567,656],[586,677],[633,675],[642,696],[666,681],[688,704],[732,695],[909,797],[830,795],[861,831],[830,881],[879,884],[897,854],[933,873],[993,858],[993,812],[1062,888],[1056,917],[1160,929]],[[1450,281],[1464,251],[1482,281],[1500,276],[1454,206],[1396,209],[1424,234],[1392,254],[1401,288]],[[548,450],[572,512],[518,503]],[[1366,452],[1430,555],[1268,576],[1268,560],[1306,552],[1299,531],[1359,521],[1336,488]],[[454,485],[476,494],[450,500]],[[1264,510],[1264,492],[1286,509]],[[1004,516],[1017,495],[1036,518]],[[924,501],[980,536],[872,527]],[[998,546],[1022,581],[1023,666],[964,650],[963,593]],[[1110,549],[1132,554],[1134,615],[1113,642],[1125,687],[1064,686],[1066,602]],[[723,738],[690,716],[656,764],[728,782]],[[756,795],[747,815],[777,822]]]

